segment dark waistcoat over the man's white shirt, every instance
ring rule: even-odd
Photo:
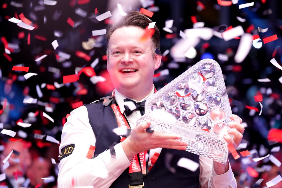
[[[110,104],[107,106],[103,105],[103,100],[85,105],[85,107],[87,108],[89,122],[96,137],[95,156],[107,150],[114,142],[120,142],[120,136],[117,136],[112,131],[118,125]],[[182,157],[199,163],[198,155],[183,150],[163,148],[157,162],[144,177],[144,187],[199,188],[199,168],[195,172],[192,172],[186,168],[177,166],[178,160]],[[127,168],[110,187],[126,188],[128,184]]]

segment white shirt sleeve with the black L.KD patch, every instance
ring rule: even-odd
[[[86,158],[96,138],[88,120],[85,106],[70,113],[62,130],[60,154],[63,147],[75,144],[73,152],[62,158],[58,166],[58,188],[74,186],[110,187],[130,165],[121,143],[114,146],[116,155],[109,150],[93,159]]]

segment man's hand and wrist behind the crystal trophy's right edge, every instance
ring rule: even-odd
[[[231,135],[234,135],[234,139],[232,139],[229,135],[224,135],[223,138],[226,140],[228,144],[232,143],[234,147],[238,147],[242,141],[243,133],[244,133],[244,126],[241,124],[242,119],[238,115],[230,115],[230,119],[234,120],[235,122],[229,122],[228,126],[228,133]],[[236,121],[239,120],[239,121]],[[232,129],[235,128],[235,129]],[[214,172],[216,172],[217,175],[224,174],[229,170],[229,162],[227,161],[226,164],[222,164],[219,162],[213,162],[213,168]]]

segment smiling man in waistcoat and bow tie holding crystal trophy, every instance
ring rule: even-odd
[[[68,117],[60,145],[58,187],[142,187],[143,183],[144,187],[236,187],[229,162],[184,151],[187,144],[179,136],[146,132],[149,121],[135,126],[140,111],[125,110],[124,99],[142,102],[154,93],[154,70],[161,63],[155,53],[160,46],[158,28],[154,26],[151,39],[140,41],[151,22],[131,11],[107,31],[107,65],[115,90],[111,97],[75,109]],[[125,140],[113,133],[118,126],[131,129]],[[235,128],[229,130],[234,139],[228,135],[224,139],[237,147],[244,127],[238,122],[229,126]],[[195,172],[178,167],[181,157],[199,162],[200,167]]]

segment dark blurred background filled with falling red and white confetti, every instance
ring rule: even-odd
[[[239,6],[252,2],[246,8]],[[21,184],[30,187],[56,187],[58,142],[66,116],[114,89],[106,69],[104,35],[93,36],[92,31],[107,29],[128,11],[144,8],[153,12],[150,19],[161,32],[163,57],[161,67],[155,71],[156,88],[162,88],[202,59],[217,61],[232,112],[243,119],[246,127],[237,152],[251,153],[237,160],[229,155],[238,187],[266,187],[266,182],[281,175],[282,70],[277,68],[282,61],[281,7],[280,0],[2,0],[0,130],[17,134],[0,134],[1,160],[11,152],[9,144],[20,143],[24,146],[19,147],[19,155],[13,152],[12,158],[20,158],[21,150],[27,148],[27,158],[31,159],[10,162],[6,169],[23,161],[28,164],[22,170],[15,168],[9,178],[19,181],[17,177],[22,176]],[[108,11],[112,16],[98,21],[96,17]],[[20,27],[11,18],[34,28]],[[221,34],[230,26],[249,34],[225,40]],[[278,39],[274,40],[275,36]],[[266,42],[263,39],[267,37],[273,39]],[[29,69],[14,70],[14,66]],[[64,81],[64,76],[74,74],[77,76],[72,82]],[[268,154],[272,157],[253,160]],[[45,177],[49,179],[41,179]],[[282,187],[282,182],[273,187]]]

